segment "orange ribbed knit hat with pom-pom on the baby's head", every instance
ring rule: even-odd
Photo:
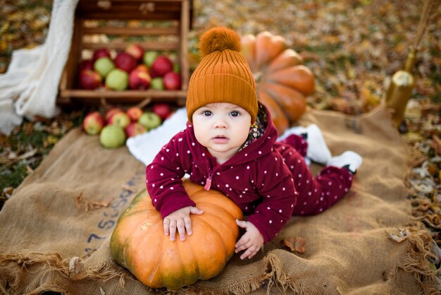
[[[256,121],[256,83],[247,60],[240,53],[240,37],[228,28],[212,28],[201,37],[199,50],[204,56],[192,74],[187,91],[187,117],[213,102],[230,102],[244,108]]]

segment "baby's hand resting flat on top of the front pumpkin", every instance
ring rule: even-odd
[[[163,219],[164,234],[170,235],[170,241],[175,241],[176,229],[181,241],[185,241],[185,231],[190,236],[192,234],[192,219],[190,219],[190,213],[201,215],[202,210],[197,207],[183,207],[170,213]]]

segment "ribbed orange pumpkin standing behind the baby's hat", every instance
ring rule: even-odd
[[[266,105],[282,134],[306,109],[315,80],[302,56],[287,47],[286,40],[271,32],[242,37],[242,54],[256,79],[257,97]]]

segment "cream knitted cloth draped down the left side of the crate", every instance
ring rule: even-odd
[[[54,0],[44,44],[18,49],[8,71],[0,75],[0,132],[10,134],[23,116],[58,114],[58,83],[68,59],[78,0]]]

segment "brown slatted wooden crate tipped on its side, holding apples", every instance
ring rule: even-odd
[[[80,0],[75,10],[70,54],[59,85],[58,104],[103,101],[136,104],[151,99],[184,105],[190,78],[187,40],[191,19],[192,0]],[[131,28],[129,24],[134,20],[145,25]],[[130,37],[142,39],[136,43],[144,50],[175,52],[182,76],[181,90],[82,90],[77,86],[79,64],[85,55],[99,48],[108,48],[116,54],[133,43],[125,41]]]

